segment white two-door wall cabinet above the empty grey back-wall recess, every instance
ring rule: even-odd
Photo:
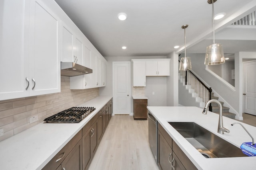
[[[170,59],[146,59],[146,76],[170,76]]]

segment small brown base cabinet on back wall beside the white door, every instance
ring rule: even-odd
[[[133,99],[133,118],[148,119],[148,99]]]

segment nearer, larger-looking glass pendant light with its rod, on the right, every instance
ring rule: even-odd
[[[214,30],[214,2],[217,0],[207,0],[208,4],[212,4],[212,23],[213,23],[213,44],[206,47],[205,65],[224,64],[224,52],[221,44],[215,44],[215,30]]]

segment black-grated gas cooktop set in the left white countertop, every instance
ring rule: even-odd
[[[78,123],[95,109],[94,107],[71,107],[47,117],[44,121],[46,123]]]

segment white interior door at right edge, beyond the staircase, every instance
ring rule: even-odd
[[[256,115],[256,61],[244,63],[244,113]]]

